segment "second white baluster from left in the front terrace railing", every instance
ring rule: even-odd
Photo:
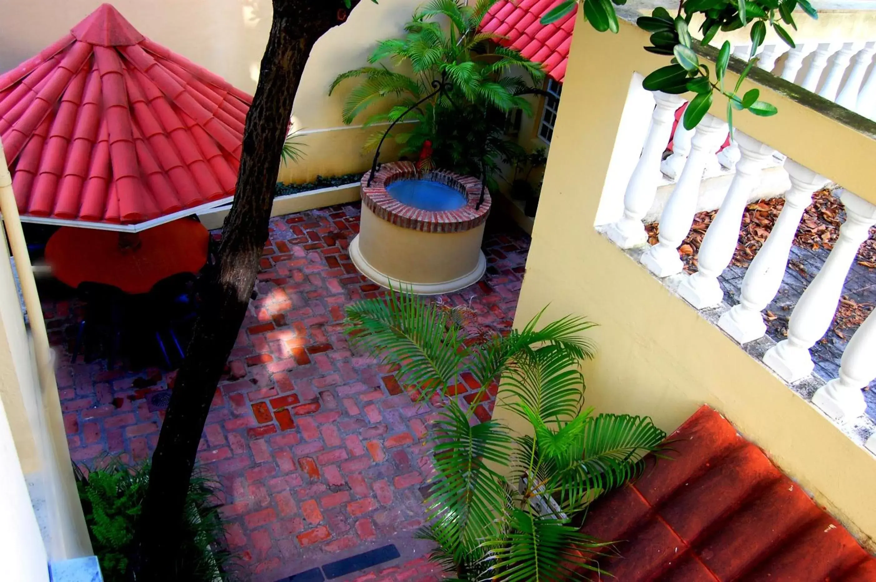
[[[714,157],[719,140],[724,139],[726,132],[727,124],[714,116],[705,116],[696,126],[688,162],[660,217],[660,242],[647,249],[641,258],[642,264],[657,277],[668,277],[682,271],[678,247],[694,222],[707,158]]]

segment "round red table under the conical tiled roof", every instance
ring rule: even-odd
[[[139,233],[61,227],[46,243],[46,262],[61,282],[113,285],[146,293],[161,279],[197,273],[207,263],[209,233],[191,219],[166,222]]]

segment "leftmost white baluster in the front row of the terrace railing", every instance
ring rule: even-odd
[[[678,95],[668,95],[660,91],[655,92],[653,96],[657,106],[654,107],[651,128],[642,147],[642,155],[639,156],[639,162],[626,185],[624,216],[609,225],[605,233],[621,249],[630,249],[648,240],[642,219],[657,194],[661,158],[666,144],[669,143],[669,134],[675,121],[675,110],[684,102]]]

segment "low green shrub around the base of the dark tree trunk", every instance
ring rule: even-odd
[[[128,466],[112,459],[87,474],[74,466],[76,486],[88,535],[105,582],[125,582],[134,533],[149,485],[148,462]],[[228,580],[224,565],[224,530],[218,511],[218,483],[195,473],[188,488],[186,511],[179,527],[180,552],[175,579],[187,582]],[[168,524],[168,528],[173,527]]]

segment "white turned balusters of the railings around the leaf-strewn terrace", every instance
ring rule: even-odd
[[[747,58],[749,52],[750,46],[737,46],[734,53]],[[876,105],[872,104],[876,101],[874,55],[876,41],[801,43],[790,50],[787,46],[767,45],[760,53],[759,67],[772,72],[783,57],[782,77],[792,80],[802,76],[802,84],[810,90],[817,88],[825,97],[836,97],[837,102],[848,109],[872,113],[876,112]],[[806,62],[808,56],[811,58]],[[807,68],[802,70],[803,66]],[[644,246],[647,242],[644,219],[646,215],[655,215],[653,205],[659,187],[667,179],[670,183],[675,181],[660,214],[658,242],[644,249],[640,262],[656,277],[681,273],[683,263],[679,248],[689,235],[696,212],[702,209],[697,204],[705,192],[703,185],[710,178],[707,168],[720,161],[731,172],[730,185],[724,186],[727,191],[723,200],[716,203],[717,214],[696,249],[696,272],[681,277],[676,289],[698,310],[724,305],[719,277],[733,260],[745,207],[752,196],[756,196],[754,193],[764,179],[765,169],[775,166],[777,159],[778,163],[783,161],[790,180],[790,187],[784,193],[785,204],[745,269],[738,305],[724,307],[717,320],[717,325],[739,344],[759,340],[767,333],[764,312],[780,291],[804,211],[813,200],[813,193],[827,186],[828,179],[739,130],[735,130],[731,146],[716,156],[715,151],[727,136],[728,128],[714,116],[705,116],[691,131],[678,123],[673,137],[673,124],[684,103],[682,98],[656,93],[654,100],[651,125],[625,188],[623,214],[605,228],[605,233],[623,249]],[[661,160],[670,138],[674,140],[673,151]],[[845,190],[840,201],[846,218],[839,228],[837,242],[794,306],[787,339],[775,343],[763,355],[764,363],[789,383],[813,373],[815,363],[809,350],[829,330],[858,249],[867,239],[869,229],[876,225],[876,205]],[[826,379],[829,382],[816,391],[812,403],[837,420],[863,414],[866,405],[862,389],[876,379],[873,354],[876,354],[876,315],[868,317],[853,334],[844,348],[838,377]],[[872,445],[876,453],[876,435],[871,441],[868,446]]]

